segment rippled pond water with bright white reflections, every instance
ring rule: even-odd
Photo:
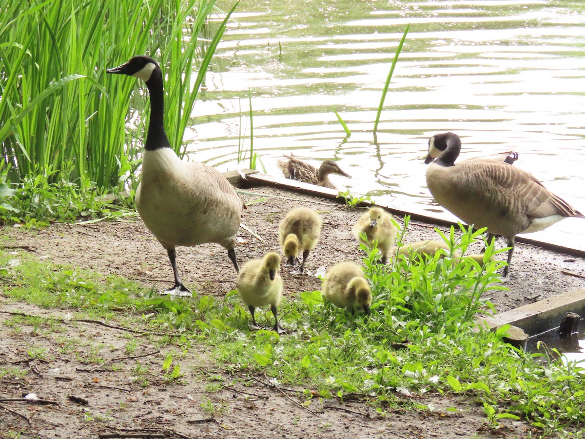
[[[334,159],[353,177],[333,176],[340,190],[455,219],[433,203],[421,160],[431,135],[453,131],[462,158],[514,150],[515,166],[585,212],[585,3],[243,0],[233,18],[195,104],[191,159],[236,168],[238,145],[250,148],[250,90],[267,173],[280,173],[283,153],[316,166]],[[528,236],[585,250],[580,221]]]

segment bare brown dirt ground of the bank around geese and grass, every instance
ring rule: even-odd
[[[313,208],[324,219],[321,240],[307,260],[310,272],[319,266],[328,269],[339,260],[359,262],[362,258],[351,228],[363,210],[350,211],[324,198],[275,188],[246,190],[261,194],[242,196],[248,205],[242,222],[261,240],[240,228],[241,242],[236,246],[240,266],[268,251],[278,251],[278,223],[288,210],[300,205]],[[166,251],[139,218],[130,222],[53,224],[36,232],[9,228],[2,233],[9,236],[6,245],[29,246],[37,257],[54,263],[115,273],[159,290],[172,284]],[[438,236],[432,225],[411,221],[407,241],[433,238]],[[478,243],[477,252],[480,249]],[[15,257],[19,251],[23,250],[16,250]],[[177,265],[185,285],[201,294],[223,296],[235,287],[235,270],[220,246],[178,248]],[[583,286],[583,278],[565,272],[585,275],[585,259],[518,244],[507,284],[510,291],[491,293],[490,300],[498,311],[505,311]],[[314,276],[291,275],[285,269],[281,275],[288,296],[321,289],[321,281]],[[9,330],[11,321],[18,318],[14,313],[56,320],[50,327],[37,328],[25,322],[19,324],[22,330]],[[1,294],[0,320],[5,328],[0,370],[12,371],[0,375],[0,437],[17,437],[14,433],[18,431],[22,431],[18,437],[23,438],[142,434],[133,437],[445,439],[527,438],[535,434],[527,423],[505,421],[495,435],[486,427],[480,406],[436,394],[417,397],[417,403],[431,407],[428,411],[379,414],[357,400],[325,400],[302,407],[296,393],[302,389],[274,386],[263,376],[228,375],[207,361],[205,347],[195,347],[181,358],[185,385],[180,385],[167,382],[160,373],[160,365],[173,347],[159,349],[142,334],[107,328],[95,321],[71,322],[66,311],[42,310]],[[124,348],[132,339],[138,348],[132,355],[125,355]],[[106,355],[119,368],[85,364],[84,359],[96,346],[108,347]],[[45,358],[33,358],[32,349],[44,349]],[[147,371],[137,372],[137,362]],[[143,387],[140,382],[145,377],[150,385]],[[207,391],[218,382],[224,387]],[[230,386],[225,387],[225,382]],[[56,404],[3,400],[22,398],[31,392]],[[75,402],[68,399],[70,396],[81,399]],[[446,410],[448,407],[458,410]]]

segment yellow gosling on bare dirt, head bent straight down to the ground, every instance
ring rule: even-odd
[[[287,259],[286,267],[297,267],[298,253],[302,249],[302,264],[292,272],[295,275],[303,273],[309,252],[315,248],[321,235],[321,217],[308,207],[292,209],[280,222],[278,227],[278,241]]]

